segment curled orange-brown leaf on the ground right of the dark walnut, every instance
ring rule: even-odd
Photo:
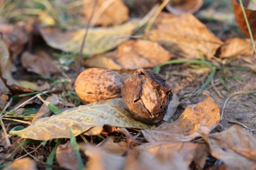
[[[182,115],[172,123],[164,123],[154,130],[142,130],[147,141],[177,142],[191,141],[199,133],[208,134],[220,122],[220,109],[211,96],[203,92],[207,99],[189,105]]]

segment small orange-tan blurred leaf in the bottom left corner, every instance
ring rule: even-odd
[[[12,164],[3,170],[36,170],[36,162],[30,158],[14,160]]]

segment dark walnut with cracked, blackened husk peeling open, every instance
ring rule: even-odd
[[[159,74],[149,69],[137,69],[124,82],[122,98],[131,116],[146,124],[163,120],[172,100],[172,89]]]

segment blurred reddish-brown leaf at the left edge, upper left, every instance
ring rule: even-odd
[[[24,50],[24,46],[28,42],[28,34],[17,25],[3,23],[0,23],[0,32],[3,34],[6,46],[11,52],[11,60],[17,60],[18,55]]]

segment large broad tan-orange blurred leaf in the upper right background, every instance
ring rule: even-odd
[[[159,42],[174,55],[188,59],[199,59],[200,53],[211,59],[223,44],[191,14],[177,16],[161,13],[157,29],[149,32],[149,39]]]

